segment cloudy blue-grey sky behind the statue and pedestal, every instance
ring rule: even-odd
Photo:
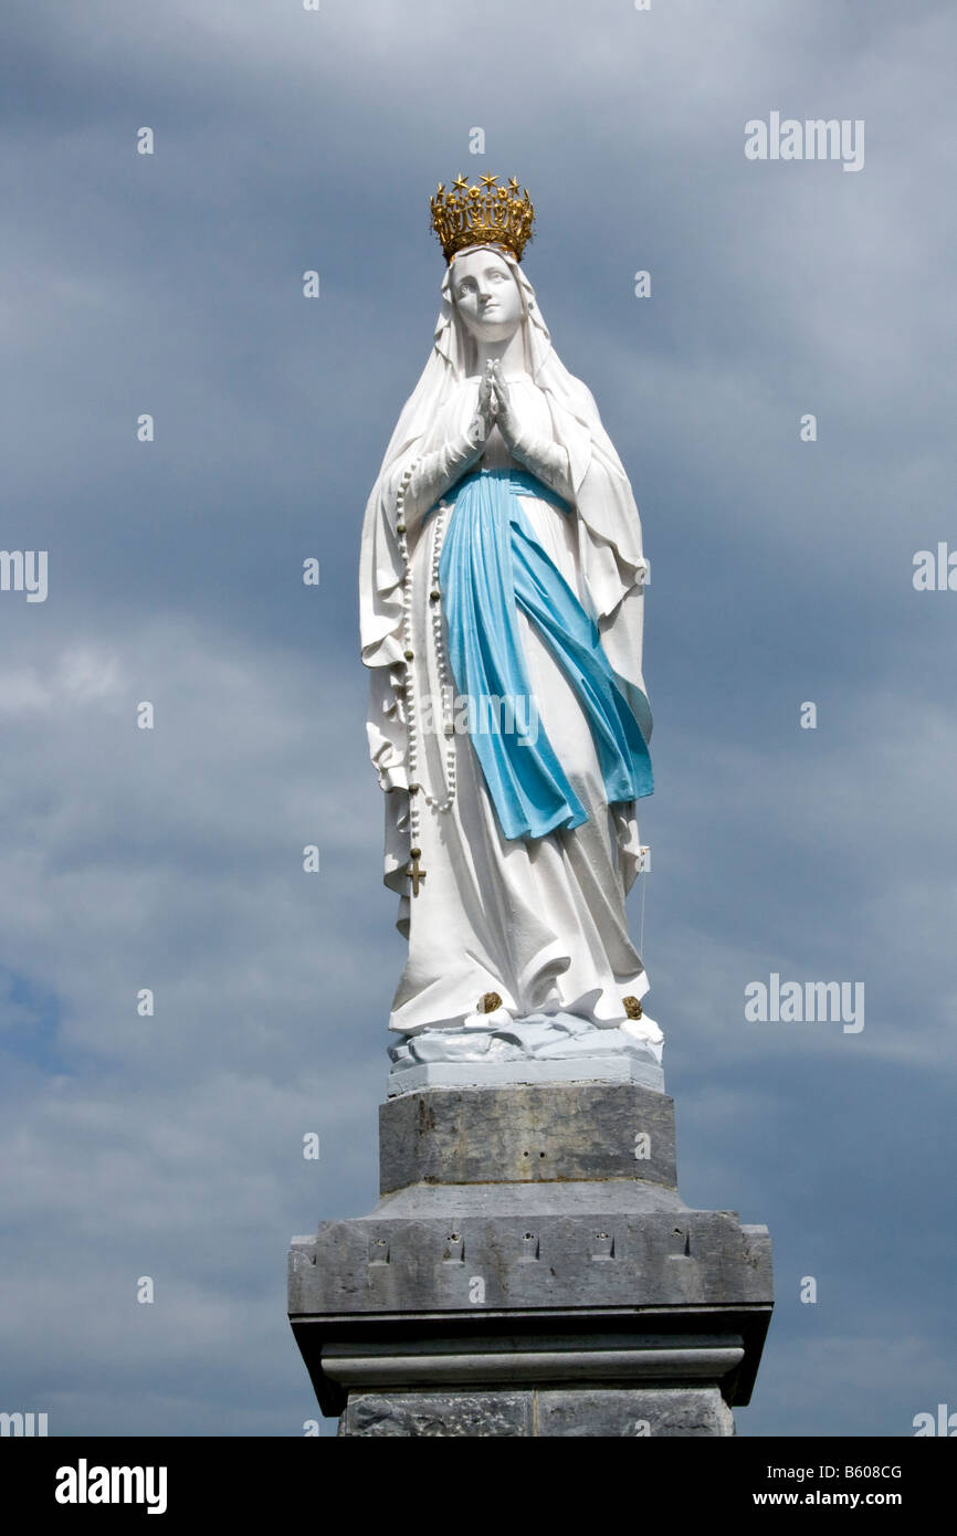
[[[774,1241],[739,1433],[957,1409],[957,591],[912,582],[957,548],[952,5],[32,0],[3,32],[2,542],[49,590],[0,593],[0,1409],[316,1412],[286,1249],[375,1203],[402,965],[358,535],[458,170],[528,186],[642,513],[680,1189]],[[776,111],[862,120],[863,167],[748,160]],[[773,972],[862,983],[865,1028],[747,1021]]]

